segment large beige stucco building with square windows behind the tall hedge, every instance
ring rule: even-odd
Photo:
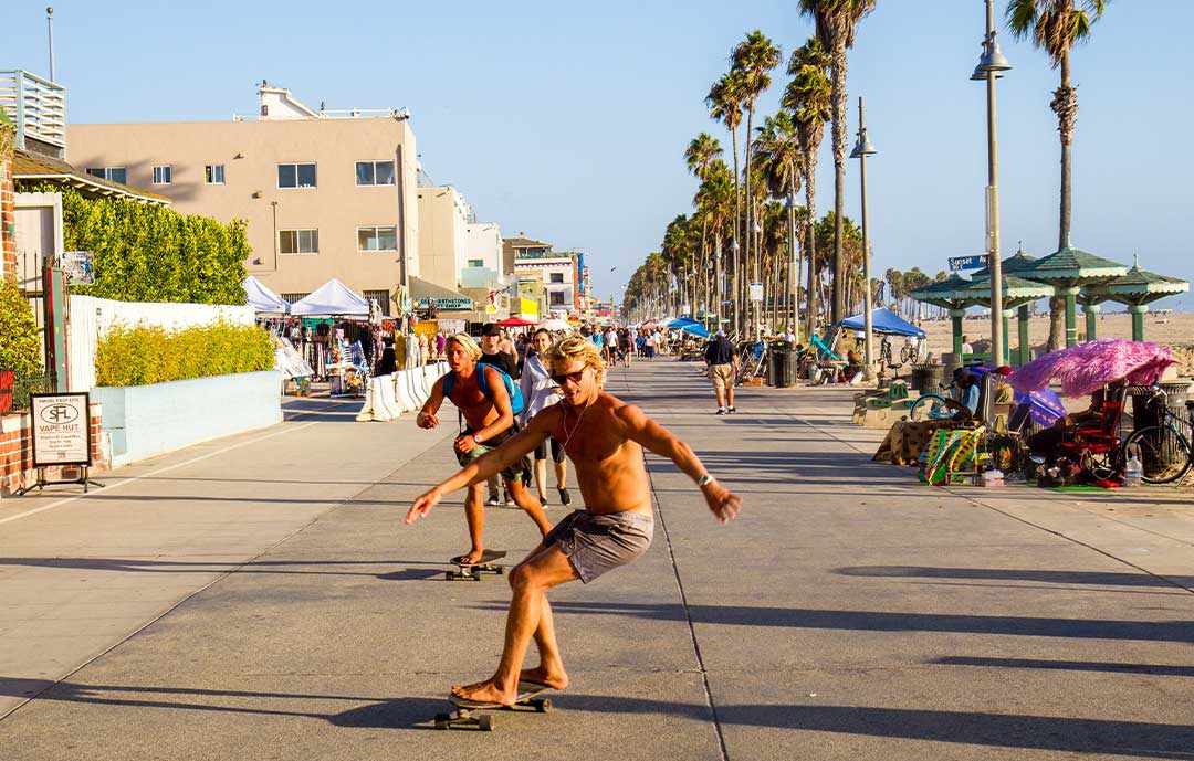
[[[245,219],[246,268],[288,301],[334,277],[390,311],[404,261],[407,276],[423,265],[408,117],[316,111],[287,89],[259,92],[253,119],[73,124],[68,159],[180,212]]]

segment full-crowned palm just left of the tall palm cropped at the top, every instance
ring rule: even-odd
[[[829,55],[820,41],[812,37],[794,50],[788,62],[788,74],[793,80],[783,93],[783,107],[796,119],[796,136],[805,160],[805,250],[808,252],[808,286],[806,289],[806,335],[817,329],[817,236],[812,234],[817,219],[817,153],[825,136],[825,122],[830,118],[832,85],[829,79]]]

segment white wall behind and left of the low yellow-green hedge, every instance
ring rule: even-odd
[[[222,304],[113,302],[94,296],[72,296],[69,309],[67,383],[70,391],[90,391],[96,385],[96,347],[113,324],[146,324],[180,330],[221,321],[232,324],[254,322],[252,307]]]

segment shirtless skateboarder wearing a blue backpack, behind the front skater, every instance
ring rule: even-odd
[[[437,427],[439,419],[436,413],[439,412],[439,406],[444,398],[451,400],[467,423],[453,443],[456,460],[463,468],[513,438],[517,433],[515,415],[522,413],[524,403],[522,391],[510,376],[493,365],[478,361],[481,358],[481,348],[472,338],[464,334],[453,335],[444,349],[451,372],[436,380],[431,388],[431,396],[419,410],[417,423],[420,428]],[[530,515],[540,533],[546,534],[552,525],[547,521],[543,506],[527,488],[530,484],[531,472],[530,460],[523,456],[503,469],[501,477],[515,503]],[[464,516],[473,543],[472,550],[463,556],[464,563],[478,561],[485,551],[481,542],[485,526],[484,497],[484,482],[470,485],[464,497]]]

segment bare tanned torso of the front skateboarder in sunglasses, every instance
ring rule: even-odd
[[[624,512],[652,515],[642,447],[627,438],[621,417],[628,408],[626,402],[601,392],[583,414],[580,409],[556,403],[531,420],[531,426],[544,426],[564,444],[576,469],[585,509],[595,515]]]

